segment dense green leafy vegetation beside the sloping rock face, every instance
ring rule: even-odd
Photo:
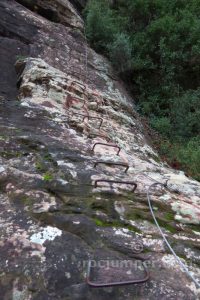
[[[199,180],[200,0],[89,0],[85,18],[91,45],[161,134],[161,154]]]

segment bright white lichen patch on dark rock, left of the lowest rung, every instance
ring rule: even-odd
[[[52,226],[47,226],[43,228],[40,232],[34,233],[30,237],[30,241],[32,243],[40,244],[43,245],[45,241],[53,241],[57,236],[62,235],[62,230],[52,227]]]

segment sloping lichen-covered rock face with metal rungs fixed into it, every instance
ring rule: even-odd
[[[1,299],[198,299],[146,191],[168,180],[151,188],[153,208],[199,280],[200,184],[160,161],[69,1],[1,1],[0,9]],[[95,282],[143,278],[143,260],[150,279],[94,289],[89,260]]]

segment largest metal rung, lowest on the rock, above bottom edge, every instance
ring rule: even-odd
[[[147,280],[149,280],[150,273],[147,270],[145,263],[142,262],[142,266],[144,268],[145,276],[144,278],[141,279],[135,279],[135,280],[127,280],[127,281],[116,281],[116,282],[110,282],[110,283],[97,283],[93,282],[90,279],[90,273],[91,273],[91,261],[89,260],[88,262],[88,270],[87,270],[87,277],[86,277],[86,282],[89,286],[93,288],[99,288],[99,287],[112,287],[112,286],[122,286],[122,285],[130,285],[130,284],[139,284],[139,283],[144,283]]]

